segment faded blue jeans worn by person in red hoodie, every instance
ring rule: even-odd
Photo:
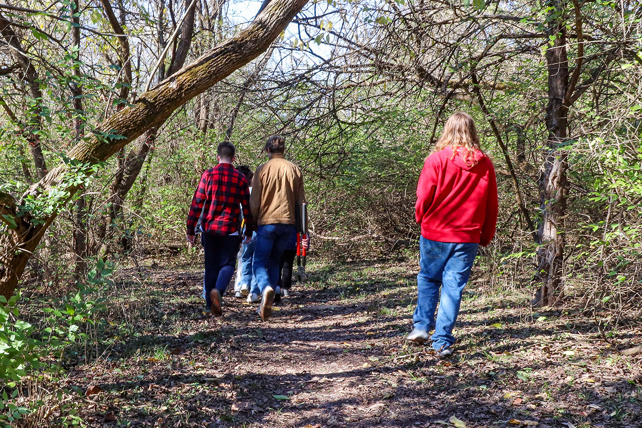
[[[412,319],[417,330],[429,332],[435,328],[435,334],[431,337],[435,350],[455,343],[453,328],[459,314],[464,286],[471,276],[478,249],[479,244],[451,244],[431,241],[423,236],[419,239],[419,296]],[[439,310],[435,322],[438,302]]]

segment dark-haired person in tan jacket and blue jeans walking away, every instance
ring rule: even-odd
[[[296,206],[306,199],[301,170],[283,157],[285,139],[268,138],[265,151],[268,161],[256,168],[250,195],[250,209],[258,225],[252,272],[261,289],[259,315],[263,321],[272,316],[279,260],[290,235],[296,233]]]

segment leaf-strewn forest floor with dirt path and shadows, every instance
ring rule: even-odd
[[[538,311],[473,275],[442,359],[405,340],[416,264],[313,263],[267,322],[233,296],[204,316],[199,265],[121,270],[59,403],[90,427],[642,427],[639,312]]]

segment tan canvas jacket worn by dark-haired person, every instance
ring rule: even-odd
[[[282,154],[273,154],[272,159],[256,168],[250,208],[259,226],[296,224],[295,206],[305,201],[301,170]]]

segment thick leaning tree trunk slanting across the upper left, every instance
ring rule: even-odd
[[[173,111],[196,95],[245,66],[270,47],[307,0],[272,0],[248,28],[205,52],[202,57],[169,76],[130,105],[103,121],[94,136],[81,141],[67,152],[76,165],[105,161],[132,139],[163,123]],[[17,204],[11,195],[0,193],[0,294],[11,296],[26,263],[42,236],[78,190],[74,177],[91,174],[91,168],[79,172],[67,164],[51,169]],[[48,201],[56,210],[49,215],[28,211],[31,201]],[[36,218],[35,216],[38,216]]]

